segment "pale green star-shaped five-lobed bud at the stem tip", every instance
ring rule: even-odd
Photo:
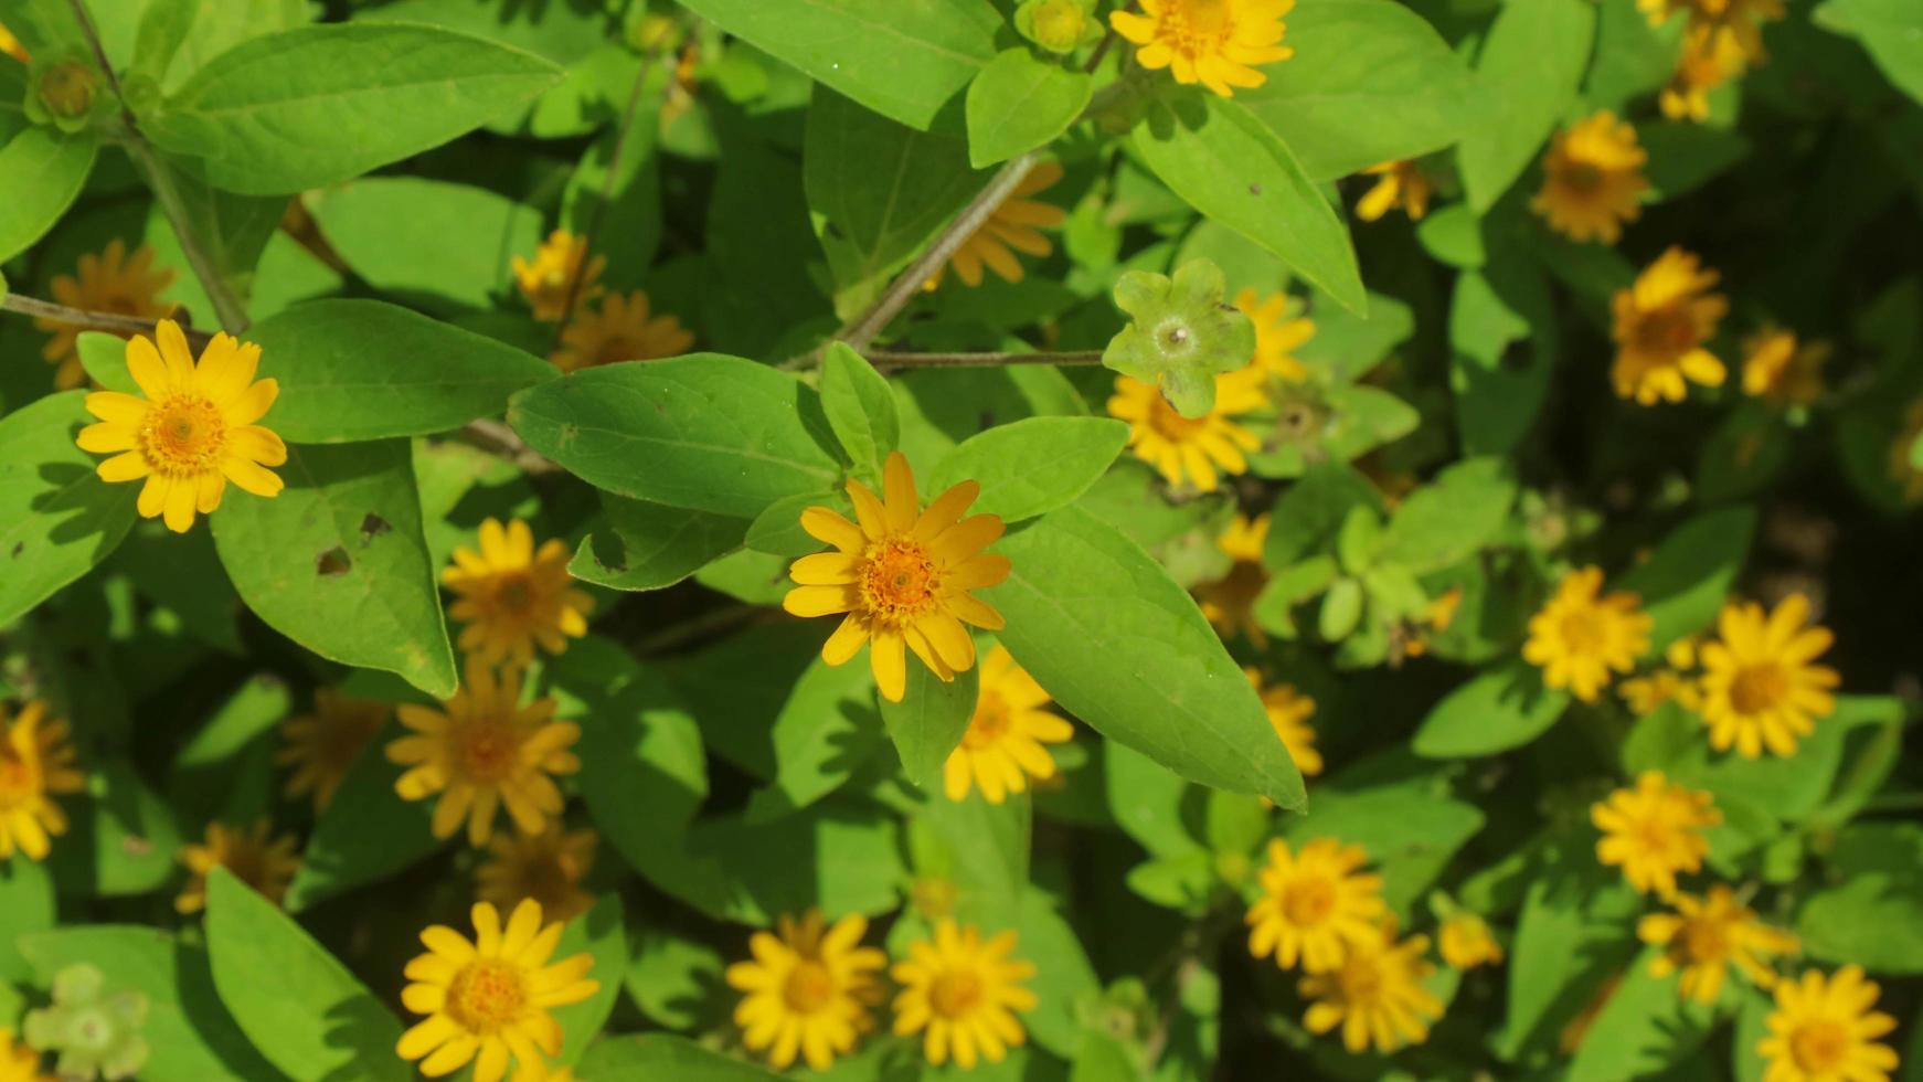
[[[1215,407],[1215,377],[1248,367],[1256,325],[1223,304],[1221,267],[1190,259],[1175,277],[1129,271],[1115,284],[1115,307],[1131,321],[1102,363],[1161,390],[1183,417]]]

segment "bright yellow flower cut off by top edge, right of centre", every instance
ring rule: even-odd
[[[1142,13],[1111,12],[1108,23],[1135,42],[1135,61],[1167,67],[1181,85],[1200,83],[1229,98],[1236,86],[1269,81],[1258,63],[1288,60],[1283,15],[1296,0],[1142,0]]]

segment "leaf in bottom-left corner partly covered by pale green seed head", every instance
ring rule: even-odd
[[[208,951],[160,928],[135,924],[69,924],[19,940],[44,988],[75,963],[90,963],[115,988],[146,996],[140,1036],[148,1044],[144,1078],[194,1082],[254,1082],[275,1069],[254,1051],[213,990]],[[392,1049],[388,1049],[392,1053]]]

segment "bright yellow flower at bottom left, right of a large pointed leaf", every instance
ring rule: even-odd
[[[562,942],[562,922],[542,926],[540,903],[521,901],[500,924],[487,901],[473,907],[475,938],[444,924],[421,932],[425,955],[408,963],[412,984],[400,1001],[427,1019],[400,1034],[402,1059],[425,1059],[421,1074],[440,1078],[475,1063],[475,1082],[500,1082],[508,1059],[531,1080],[546,1078],[542,1055],[560,1055],[562,1024],[548,1011],[600,990],[587,974],[594,955],[548,965]]]

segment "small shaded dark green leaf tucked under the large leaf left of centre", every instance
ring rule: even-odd
[[[660,590],[740,548],[746,530],[742,519],[602,492],[602,523],[567,573],[613,590]]]

